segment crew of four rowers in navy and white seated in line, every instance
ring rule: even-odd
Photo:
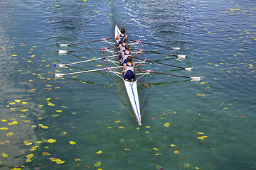
[[[124,66],[124,79],[132,80],[135,78],[134,69],[135,64],[132,63],[132,51],[129,50],[127,44],[127,35],[125,29],[120,30],[120,34],[117,35],[117,46],[119,47],[119,60],[121,65]]]

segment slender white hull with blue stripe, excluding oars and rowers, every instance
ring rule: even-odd
[[[115,26],[114,39],[115,39],[116,45],[117,45],[116,38],[117,38],[117,35],[119,35],[120,33],[121,32],[120,32],[118,26]],[[118,56],[117,56],[117,58],[118,58]],[[119,64],[121,65],[120,61],[119,61]],[[124,68],[120,67],[120,69],[121,69],[121,72],[123,73]],[[141,116],[140,108],[139,108],[139,96],[138,96],[136,76],[135,76],[135,79],[133,79],[133,80],[127,80],[127,79],[124,79],[124,74],[122,74],[122,79],[124,81],[124,86],[127,91],[129,101],[132,105],[132,110],[134,112],[135,118],[137,119],[137,123],[138,123],[138,125],[142,125],[142,116]]]

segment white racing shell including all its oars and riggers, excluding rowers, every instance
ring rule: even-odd
[[[124,78],[124,67],[121,64],[121,61],[119,60],[119,47],[117,47],[118,44],[118,40],[117,40],[117,35],[119,35],[121,32],[118,28],[118,26],[114,27],[114,38],[102,38],[99,40],[90,40],[90,41],[86,41],[86,42],[78,42],[78,43],[73,43],[73,44],[59,44],[60,47],[67,47],[68,45],[78,45],[78,44],[82,44],[82,43],[87,43],[87,42],[95,42],[95,41],[102,41],[102,42],[107,42],[107,44],[112,45],[112,47],[101,47],[101,48],[96,48],[96,49],[85,49],[85,50],[58,50],[58,54],[60,55],[67,55],[70,52],[80,52],[80,51],[88,51],[88,50],[103,50],[105,52],[110,52],[112,55],[107,56],[107,57],[99,57],[99,58],[92,58],[91,60],[84,60],[81,62],[73,62],[70,64],[55,64],[55,67],[68,67],[69,65],[73,65],[73,64],[80,64],[83,62],[92,62],[95,60],[105,60],[105,62],[111,62],[114,67],[105,67],[105,68],[100,68],[100,69],[91,69],[91,70],[86,70],[86,71],[81,71],[81,72],[71,72],[71,73],[66,73],[66,74],[59,74],[59,73],[55,73],[52,76],[54,78],[63,78],[65,76],[68,75],[72,75],[72,74],[80,74],[80,73],[87,73],[87,72],[100,72],[100,71],[106,71],[106,72],[111,72],[115,75],[117,75],[118,77],[120,77],[121,79],[123,79],[124,81],[124,86],[125,86],[125,90],[127,93],[127,96],[129,98],[129,102],[132,106],[132,111],[134,113],[134,117],[137,120],[137,123],[139,126],[142,125],[142,116],[141,116],[141,111],[140,111],[140,106],[139,106],[139,95],[138,95],[138,89],[137,89],[137,81],[138,79],[140,79],[141,77],[144,77],[145,75],[148,74],[164,74],[164,75],[169,75],[169,76],[174,76],[174,77],[183,77],[186,79],[191,79],[191,81],[200,81],[201,77],[186,77],[186,76],[179,76],[179,75],[175,75],[175,74],[169,74],[166,72],[154,72],[152,70],[144,70],[144,69],[138,69],[137,67],[139,67],[141,64],[146,64],[146,62],[151,62],[151,63],[157,63],[157,64],[164,64],[167,66],[171,66],[171,67],[176,67],[178,69],[183,69],[186,71],[193,71],[195,70],[194,68],[191,67],[178,67],[178,66],[174,66],[171,64],[166,64],[166,63],[161,63],[161,62],[156,62],[153,60],[146,60],[146,59],[142,59],[142,58],[137,58],[137,55],[140,55],[144,52],[152,52],[152,51],[145,51],[145,50],[134,50],[134,52],[132,52],[132,58],[133,60],[135,60],[136,62],[133,62],[135,64],[136,70],[138,73],[135,74],[135,70],[134,70],[134,79],[125,79]],[[111,42],[109,40],[113,40],[114,42]],[[129,40],[132,43],[129,43],[130,47],[134,46],[134,45],[138,45],[140,43],[144,43],[144,44],[149,44],[149,45],[154,45],[154,44],[150,44],[147,42],[141,42],[141,41],[137,41],[137,40]],[[159,47],[165,47],[163,45],[155,45],[155,46],[159,46]],[[113,50],[116,49],[116,50]],[[180,47],[169,47],[169,49],[173,49],[173,50],[181,50]],[[153,52],[159,55],[171,55],[173,57],[178,57],[178,58],[186,58],[186,55],[173,55],[173,54],[164,54],[164,53],[160,53],[160,52]],[[112,58],[116,57],[117,60],[113,60]],[[116,69],[120,69],[121,72],[117,72],[114,71]],[[137,77],[137,76],[140,77]]]

